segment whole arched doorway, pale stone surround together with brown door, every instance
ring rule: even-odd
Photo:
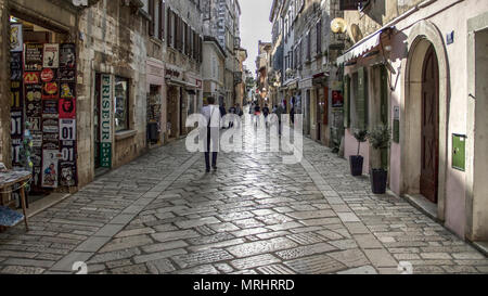
[[[442,35],[428,21],[412,27],[407,44],[408,56],[402,62],[400,193],[431,202],[422,202],[422,207],[444,221],[449,158],[447,52]]]

